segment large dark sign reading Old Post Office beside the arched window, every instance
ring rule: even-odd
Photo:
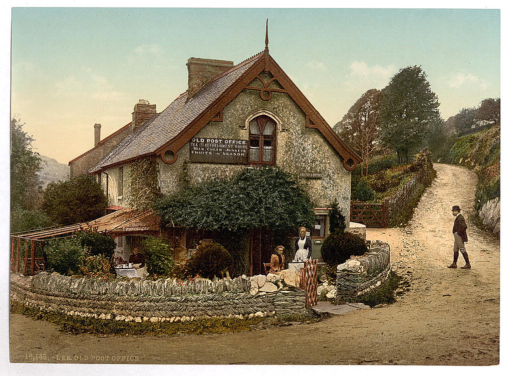
[[[190,161],[246,164],[248,140],[194,137],[190,140]]]

